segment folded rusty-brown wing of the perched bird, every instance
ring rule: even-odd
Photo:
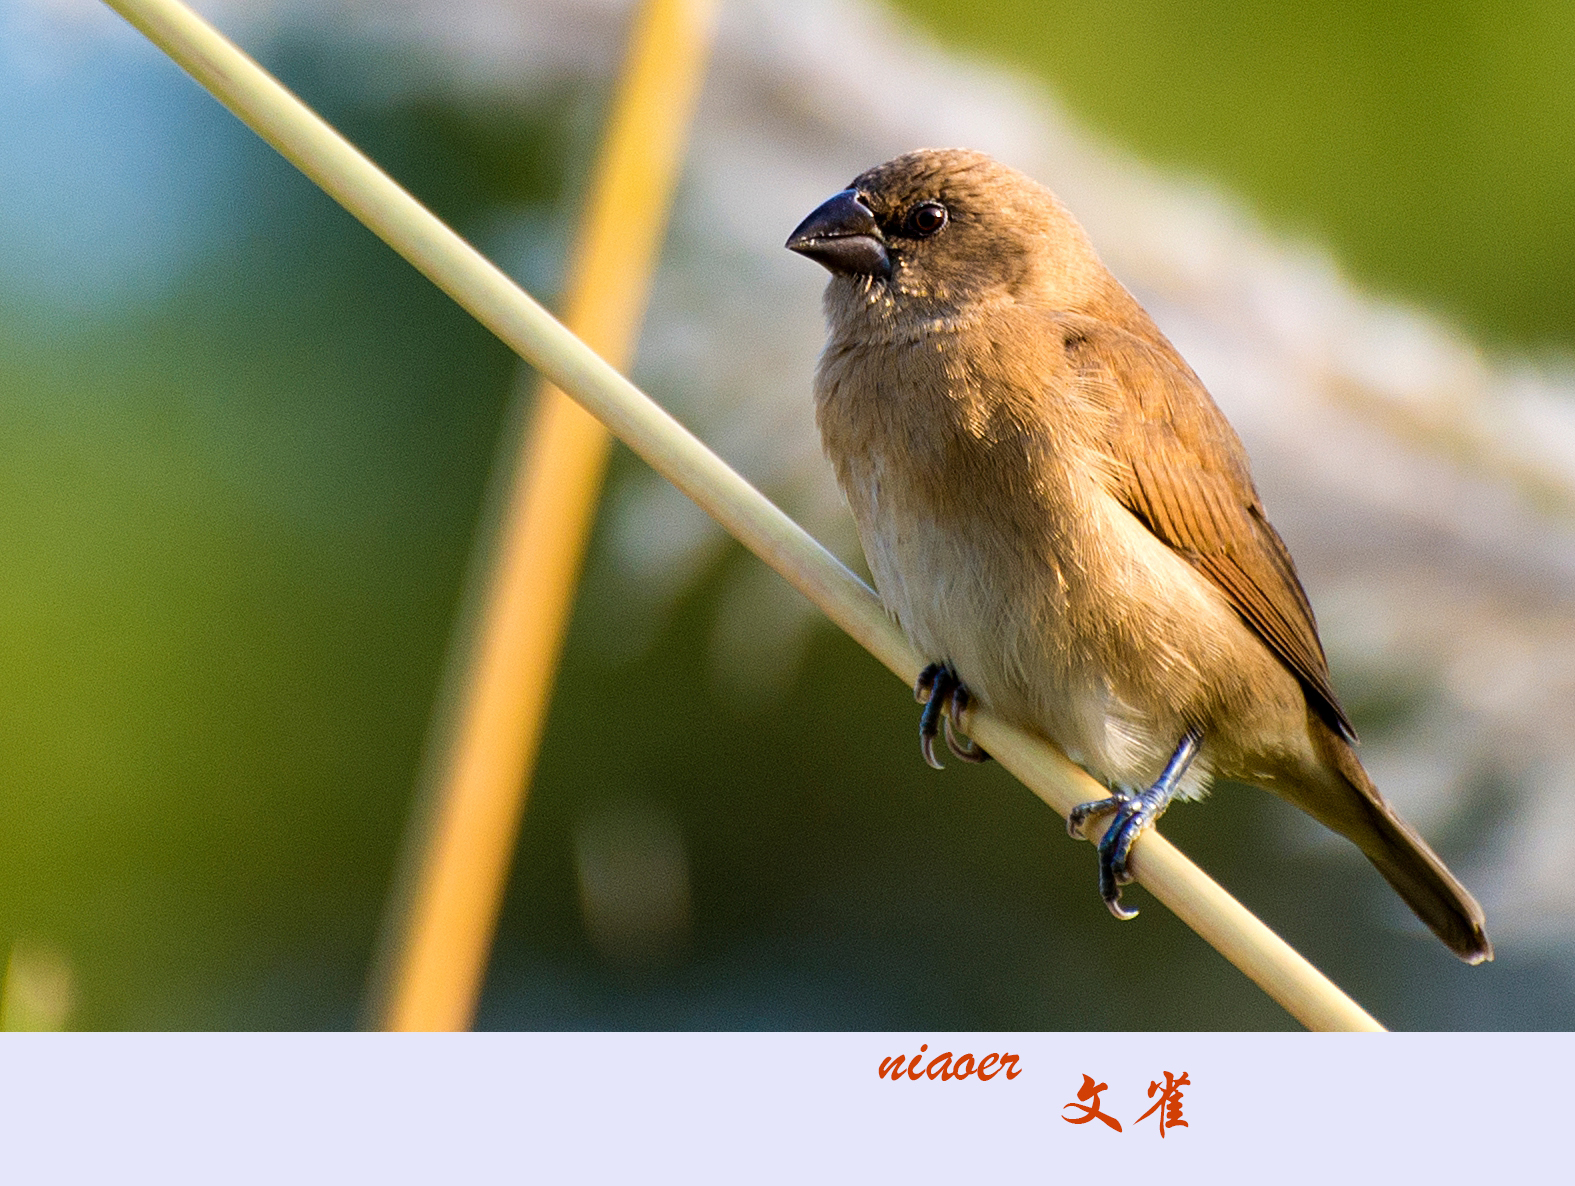
[[[1110,411],[1110,493],[1230,599],[1348,740],[1307,594],[1263,517],[1247,454],[1191,367],[1106,321],[1057,318],[1077,383]],[[1156,331],[1158,332],[1158,331]]]

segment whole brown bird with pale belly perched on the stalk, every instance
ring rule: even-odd
[[[1112,789],[1099,888],[1214,778],[1348,836],[1466,962],[1482,907],[1373,788],[1247,455],[1044,186],[983,153],[877,165],[788,239],[832,272],[816,422],[887,610],[931,666],[920,743],[983,759],[969,698]]]

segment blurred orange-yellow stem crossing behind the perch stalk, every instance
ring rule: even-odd
[[[570,250],[564,323],[613,365],[635,354],[699,95],[710,0],[643,0]],[[611,436],[542,383],[506,461],[509,491],[468,671],[443,709],[432,781],[413,814],[391,936],[373,969],[378,1025],[463,1030],[476,1017],[551,688],[573,613]]]

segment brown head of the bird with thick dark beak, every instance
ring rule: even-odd
[[[786,246],[832,272],[833,320],[857,307],[937,318],[992,301],[1080,309],[1114,284],[1049,189],[959,148],[860,173]]]

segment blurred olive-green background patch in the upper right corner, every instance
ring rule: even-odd
[[[1575,6],[899,0],[1479,340],[1575,343]]]

